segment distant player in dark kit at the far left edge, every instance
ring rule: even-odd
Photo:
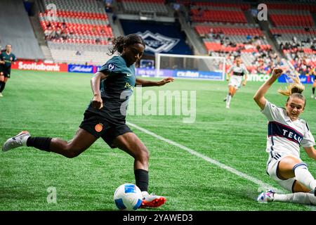
[[[2,91],[10,78],[12,62],[16,61],[16,57],[11,51],[11,44],[7,44],[6,51],[0,53],[0,97],[3,97]]]

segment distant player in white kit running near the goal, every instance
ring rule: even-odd
[[[240,88],[240,86],[245,86],[247,82],[247,75],[248,70],[242,63],[241,58],[236,59],[236,65],[232,65],[232,67],[227,72],[227,80],[230,79],[230,82],[228,84],[228,95],[224,99],[226,101],[226,108],[230,108],[230,100],[232,99],[232,96],[235,95],[237,89]],[[230,72],[232,72],[232,76],[230,76]],[[243,81],[244,77],[244,81]]]

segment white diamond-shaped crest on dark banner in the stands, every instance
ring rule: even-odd
[[[159,33],[153,34],[149,30],[143,33],[138,32],[137,34],[143,37],[146,51],[152,51],[153,53],[168,52],[180,41],[178,38],[166,37]]]

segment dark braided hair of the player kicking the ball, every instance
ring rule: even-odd
[[[129,46],[131,44],[143,44],[145,47],[145,41],[142,37],[140,37],[138,34],[129,34],[126,36],[119,36],[114,39],[113,41],[113,47],[112,49],[109,49],[110,54],[108,55],[113,55],[116,51],[119,53],[122,53],[123,47],[124,46]]]

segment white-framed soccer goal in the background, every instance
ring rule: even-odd
[[[156,53],[156,77],[225,79],[224,57]]]

